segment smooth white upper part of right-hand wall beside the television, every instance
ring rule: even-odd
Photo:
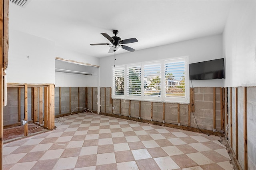
[[[236,2],[223,34],[225,87],[256,86],[255,1]]]

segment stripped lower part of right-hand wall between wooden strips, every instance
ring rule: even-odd
[[[237,93],[236,93],[237,89]],[[226,100],[228,101],[228,121],[226,121],[227,125],[227,140],[232,148],[235,157],[238,156],[238,163],[241,168],[244,170],[245,156],[244,156],[244,134],[247,134],[247,162],[248,169],[255,170],[256,169],[256,87],[247,87],[247,133],[244,131],[244,87],[228,87],[228,95]],[[232,91],[232,95],[230,93]],[[236,97],[237,96],[237,97]],[[231,101],[232,99],[232,101]],[[237,107],[236,107],[236,99],[237,99]],[[237,111],[237,112],[236,112]],[[232,119],[231,119],[232,112]],[[237,124],[236,124],[236,114],[237,114]],[[232,125],[231,125],[232,123]],[[231,128],[232,126],[232,128]],[[236,127],[238,130],[236,131]],[[231,131],[232,130],[232,131]],[[232,137],[231,137],[232,134]],[[236,142],[236,138],[238,143]],[[232,141],[231,141],[232,140]],[[232,142],[232,145],[231,145]],[[238,150],[236,149],[238,148]],[[238,155],[237,155],[238,154]]]

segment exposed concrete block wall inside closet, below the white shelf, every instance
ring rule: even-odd
[[[86,87],[55,87],[54,95],[55,115],[82,111],[83,108],[86,108]],[[97,98],[97,96],[94,98]]]

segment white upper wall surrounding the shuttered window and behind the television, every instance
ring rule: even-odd
[[[187,55],[189,63],[196,63],[222,58],[222,34],[138,50],[133,53],[119,55],[118,52],[116,53],[116,65]],[[114,65],[114,54],[110,57],[100,58],[100,87],[111,87],[112,65]],[[192,83],[194,87],[222,87],[223,79],[196,80]]]

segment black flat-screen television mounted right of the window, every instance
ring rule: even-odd
[[[190,80],[224,79],[224,59],[214,59],[199,63],[191,63],[189,67]]]

